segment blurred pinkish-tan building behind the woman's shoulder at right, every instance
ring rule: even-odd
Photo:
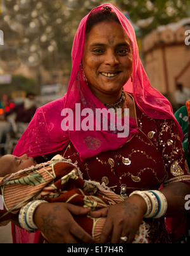
[[[185,43],[189,29],[190,18],[184,18],[158,27],[143,40],[144,67],[151,85],[174,105],[175,85],[190,89],[190,45]]]

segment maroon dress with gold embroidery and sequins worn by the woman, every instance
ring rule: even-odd
[[[136,106],[136,122],[139,133],[115,151],[102,152],[84,162],[72,143],[59,153],[72,162],[77,161],[84,179],[104,182],[118,195],[159,189],[177,181],[190,184],[189,168],[174,121],[150,118]],[[170,243],[164,218],[144,221],[150,226],[150,243]]]

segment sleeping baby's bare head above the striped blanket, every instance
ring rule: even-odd
[[[37,165],[33,157],[23,155],[15,157],[14,155],[4,155],[0,158],[0,177],[18,172],[18,170],[26,169],[32,165]]]

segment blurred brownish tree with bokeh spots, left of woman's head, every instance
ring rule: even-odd
[[[99,0],[3,0],[1,68],[11,72],[21,64],[35,67],[39,63],[47,70],[70,67],[73,36],[80,20],[101,3]]]

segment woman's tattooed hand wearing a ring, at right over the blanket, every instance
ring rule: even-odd
[[[132,243],[146,213],[146,202],[139,195],[133,195],[122,203],[111,205],[97,212],[91,212],[91,217],[106,217],[101,233],[100,243],[124,243],[120,237],[127,236],[127,243]]]

